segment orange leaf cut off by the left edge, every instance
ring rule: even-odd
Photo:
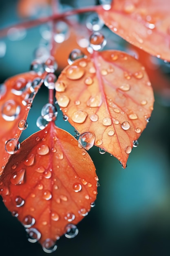
[[[18,146],[21,132],[27,127],[31,103],[42,82],[37,73],[27,72],[7,79],[0,87],[0,175],[11,156],[5,150],[5,143],[15,138],[11,142],[14,148]]]

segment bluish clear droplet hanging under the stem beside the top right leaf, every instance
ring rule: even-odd
[[[86,27],[91,31],[99,31],[104,26],[104,22],[99,18],[97,13],[91,13],[86,19]]]

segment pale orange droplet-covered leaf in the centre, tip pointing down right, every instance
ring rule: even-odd
[[[64,115],[82,135],[82,145],[99,146],[125,167],[153,109],[145,68],[124,52],[94,52],[67,66],[55,89]]]

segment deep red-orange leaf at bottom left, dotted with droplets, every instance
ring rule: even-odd
[[[97,195],[91,157],[53,122],[22,142],[0,181],[4,204],[27,228],[29,240],[39,240],[47,252],[88,214]]]

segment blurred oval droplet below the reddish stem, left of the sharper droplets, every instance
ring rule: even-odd
[[[54,27],[54,40],[57,43],[64,42],[69,36],[69,27],[66,22],[58,21]]]

